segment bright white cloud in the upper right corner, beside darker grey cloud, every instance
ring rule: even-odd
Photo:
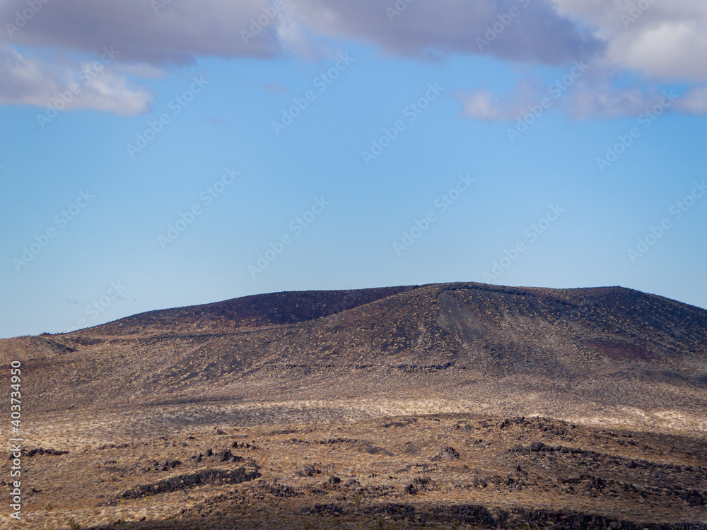
[[[554,107],[574,119],[638,116],[660,102],[665,84],[686,83],[688,90],[670,111],[707,114],[707,4],[556,0],[555,5],[559,15],[594,28],[607,47],[592,57],[591,71]],[[625,86],[627,74],[634,78],[629,86]],[[519,86],[506,98],[479,90],[460,98],[462,115],[512,120],[537,102],[540,91],[539,83],[534,89]],[[480,106],[470,112],[469,105]]]

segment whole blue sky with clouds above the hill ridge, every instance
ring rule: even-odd
[[[707,4],[4,0],[0,337],[282,290],[707,307]]]

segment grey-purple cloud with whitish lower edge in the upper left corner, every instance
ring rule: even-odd
[[[25,0],[0,1],[0,104],[44,106],[78,83],[81,93],[67,108],[137,114],[148,110],[151,96],[144,88],[133,88],[130,77],[161,77],[163,66],[192,64],[198,56],[267,58],[281,52],[279,16],[264,0],[173,0],[158,13],[148,0],[51,0],[37,5],[41,8],[22,20],[18,13],[28,9]],[[257,29],[252,20],[262,16],[267,24],[245,39],[241,30]],[[18,46],[51,47],[64,66],[25,59],[13,49]],[[106,46],[119,51],[118,59],[110,71],[83,86],[76,79],[81,65],[71,61],[71,52],[100,55]]]

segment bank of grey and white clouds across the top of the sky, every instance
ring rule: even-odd
[[[694,0],[6,0],[0,23],[4,104],[45,105],[81,69],[25,57],[31,49],[68,57],[115,47],[116,64],[75,105],[136,114],[151,98],[129,78],[199,57],[312,58],[329,37],[420,60],[464,54],[560,69],[588,61],[591,70],[563,100],[579,119],[641,111],[665,83],[687,86],[676,110],[707,112],[707,4]],[[618,86],[625,74],[635,81]],[[512,119],[546,88],[460,93],[462,114]]]

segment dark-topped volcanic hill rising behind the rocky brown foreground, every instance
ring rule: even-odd
[[[276,293],[7,339],[0,359],[28,360],[41,374],[27,383],[37,413],[474,397],[490,411],[575,418],[638,408],[634,419],[689,418],[685,428],[707,410],[707,311],[624,288]]]

